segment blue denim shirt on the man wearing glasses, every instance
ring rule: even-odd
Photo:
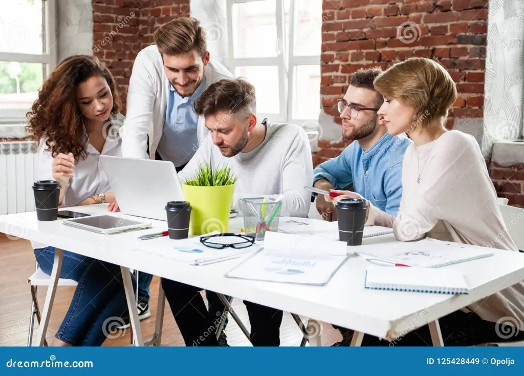
[[[386,132],[364,151],[355,141],[313,170],[313,184],[319,179],[328,180],[334,189],[353,184],[353,190],[375,207],[396,216],[402,197],[402,160],[411,142],[403,133]]]

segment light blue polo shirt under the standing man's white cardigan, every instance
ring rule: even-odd
[[[173,86],[169,85],[166,121],[157,151],[163,160],[170,160],[177,167],[188,163],[198,148],[198,116],[193,110],[193,102],[202,94],[204,88],[205,77],[191,96],[182,98]]]

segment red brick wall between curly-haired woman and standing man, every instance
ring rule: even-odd
[[[124,105],[137,53],[179,16],[189,17],[189,0],[93,0],[93,53],[115,77]]]

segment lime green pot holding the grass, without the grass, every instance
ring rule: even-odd
[[[185,201],[191,204],[189,232],[202,235],[212,231],[228,231],[235,185],[195,187],[182,184]]]

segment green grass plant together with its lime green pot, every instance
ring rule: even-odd
[[[189,223],[191,234],[228,231],[237,180],[231,166],[213,168],[205,163],[182,183],[184,198],[193,208]]]

